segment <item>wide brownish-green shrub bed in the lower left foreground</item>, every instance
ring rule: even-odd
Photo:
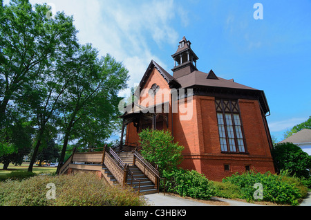
[[[54,183],[56,199],[46,199],[46,185]],[[35,176],[0,183],[0,205],[6,206],[140,206],[144,199],[130,187],[110,187],[92,173]]]

